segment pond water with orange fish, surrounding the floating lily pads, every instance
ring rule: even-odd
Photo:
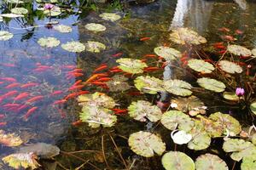
[[[243,106],[249,104],[230,102],[223,99],[222,94],[200,88],[195,77],[201,75],[188,71],[184,60],[161,68],[161,59],[145,55],[154,54],[155,47],[170,46],[187,54],[188,58],[185,60],[194,58],[195,52],[198,52],[206,53],[213,61],[218,61],[224,49],[212,48],[213,43],[234,43],[249,49],[256,48],[255,2],[160,0],[139,5],[124,3],[122,10],[114,9],[113,5],[109,4],[101,4],[96,7],[97,10],[81,7],[82,13],[76,12],[79,9],[75,6],[73,12],[67,12],[69,4],[61,4],[66,10],[59,16],[51,17],[50,21],[57,20],[59,25],[71,26],[72,31],[67,33],[56,31],[53,26],[57,25],[47,25],[49,16],[36,10],[37,3],[25,4],[21,6],[29,8],[28,16],[3,18],[3,21],[0,21],[0,31],[14,34],[8,41],[0,41],[0,129],[19,135],[24,143],[22,145],[44,142],[60,147],[61,154],[56,156],[55,160],[40,161],[43,165],[41,169],[164,169],[160,156],[144,158],[130,150],[127,139],[131,133],[137,131],[159,133],[166,142],[166,150],[183,151],[194,161],[201,154],[212,153],[224,159],[228,167],[232,168],[234,161],[220,147],[223,140],[212,139],[207,150],[189,150],[185,145],[174,145],[170,136],[171,131],[160,123],[137,122],[127,114],[117,115],[118,122],[109,128],[91,128],[87,122],[78,123],[79,125],[73,123],[79,120],[81,111],[76,97],[79,94],[86,94],[86,91],[108,94],[119,104],[120,110],[126,109],[132,101],[144,99],[158,105],[164,111],[163,105],[170,104],[170,99],[176,96],[167,93],[139,94],[134,87],[124,92],[112,92],[98,84],[87,84],[83,88],[72,87],[80,80],[88,80],[100,65],[108,65],[108,71],[103,69],[97,73],[108,72],[109,76],[113,77],[115,74],[123,74],[114,73],[114,69],[109,70],[118,65],[116,59],[146,59],[148,66],[160,66],[159,70],[148,71],[146,75],[166,80],[177,78],[189,82],[196,87],[193,94],[207,105],[207,113],[222,111],[236,117],[242,127],[249,127],[253,125],[253,116],[248,115],[248,106]],[[12,5],[6,6],[3,3],[0,9],[2,14],[9,13],[8,8],[12,8]],[[122,19],[114,22],[102,20],[99,17],[102,12],[119,14]],[[99,23],[107,29],[99,33],[88,31],[84,27],[88,23]],[[184,47],[170,41],[169,34],[177,27],[193,28],[202,37],[207,38],[207,45],[196,48]],[[41,47],[38,39],[42,37],[55,37],[61,44],[71,41],[102,42],[107,48],[100,53],[67,52],[61,45],[54,48]],[[247,70],[247,65],[252,66],[247,75],[254,77],[253,81],[249,82],[249,97],[252,101],[255,99],[255,59],[235,60],[241,62],[244,71]],[[135,77],[128,77],[132,85]],[[225,80],[218,78],[221,81]],[[237,82],[230,82],[228,91],[235,91],[236,87],[246,87],[247,81],[244,79],[245,74],[237,76]],[[0,158],[17,150],[17,147],[2,146]],[[233,169],[240,169],[240,164],[241,162],[236,163]],[[11,168],[0,161],[0,169]]]

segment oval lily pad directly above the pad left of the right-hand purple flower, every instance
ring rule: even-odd
[[[235,73],[241,73],[242,68],[240,65],[237,65],[236,63],[233,63],[228,60],[221,60],[218,62],[219,67],[221,70],[228,72],[230,74],[235,74]]]

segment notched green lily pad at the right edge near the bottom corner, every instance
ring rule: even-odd
[[[232,152],[231,158],[241,161],[245,156],[256,155],[256,146],[243,139],[227,139],[224,141],[223,149],[225,152]]]

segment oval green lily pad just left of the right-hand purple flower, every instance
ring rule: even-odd
[[[197,79],[197,83],[202,87],[206,88],[207,90],[211,90],[213,92],[223,92],[226,86],[223,82],[219,82],[218,80],[212,78],[202,77]]]

